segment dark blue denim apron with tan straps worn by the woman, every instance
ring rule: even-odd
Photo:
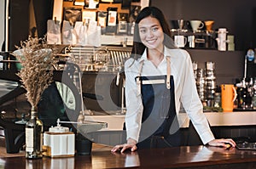
[[[166,76],[141,76],[143,61],[136,77],[137,94],[143,101],[143,119],[138,149],[180,145],[175,108],[174,81],[170,57],[166,57]]]

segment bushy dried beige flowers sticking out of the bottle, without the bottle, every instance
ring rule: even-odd
[[[15,57],[20,61],[20,76],[22,87],[26,89],[27,101],[36,108],[44,89],[49,87],[53,78],[53,51],[45,43],[45,37],[28,37],[20,42],[19,54]]]

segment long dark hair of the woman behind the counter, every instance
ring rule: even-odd
[[[142,56],[146,46],[141,42],[139,35],[138,23],[151,16],[159,20],[162,30],[164,32],[164,45],[167,48],[175,48],[175,45],[171,38],[170,27],[166,21],[165,15],[161,12],[159,8],[156,7],[146,7],[137,15],[137,20],[135,21],[134,36],[133,36],[133,47],[131,49],[131,58],[138,59]]]

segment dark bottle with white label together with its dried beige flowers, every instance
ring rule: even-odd
[[[37,107],[42,93],[52,82],[54,60],[52,50],[45,48],[44,42],[45,37],[29,37],[20,42],[20,48],[14,52],[21,65],[17,75],[32,106],[31,119],[26,123],[26,158],[29,159],[43,156],[43,122],[38,119]]]

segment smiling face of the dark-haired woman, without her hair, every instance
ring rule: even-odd
[[[163,49],[164,32],[159,20],[148,16],[138,24],[139,35],[143,44],[150,49]]]

